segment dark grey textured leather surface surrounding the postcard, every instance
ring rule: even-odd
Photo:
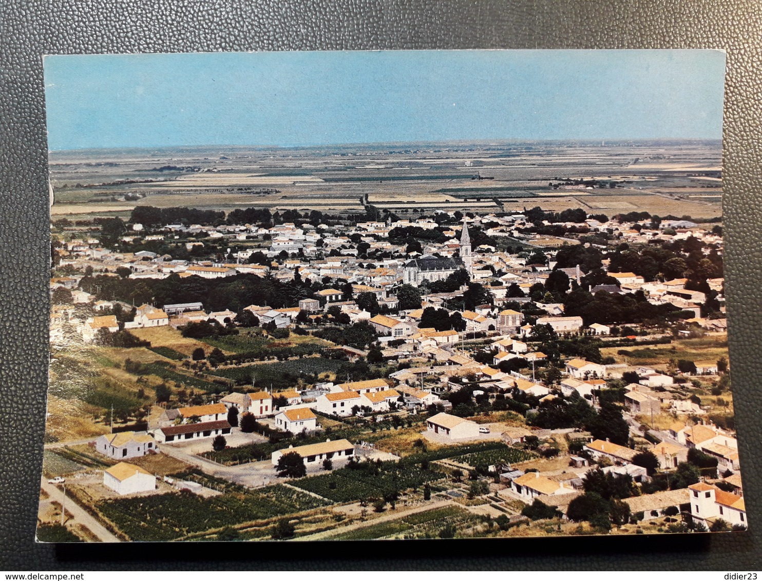
[[[758,568],[762,555],[759,2],[0,2],[0,570]],[[719,48],[733,390],[751,530],[735,535],[141,547],[34,544],[47,378],[42,55],[276,49]],[[569,90],[574,90],[570,79]],[[256,556],[250,560],[248,555]]]

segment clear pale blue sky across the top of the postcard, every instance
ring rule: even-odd
[[[725,54],[496,50],[45,57],[51,150],[722,136]]]

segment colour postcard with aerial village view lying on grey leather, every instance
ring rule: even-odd
[[[725,53],[44,68],[38,541],[746,528]]]

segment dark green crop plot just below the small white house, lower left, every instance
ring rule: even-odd
[[[171,541],[210,529],[256,522],[327,506],[280,485],[202,498],[189,492],[98,503],[107,519],[132,541]]]

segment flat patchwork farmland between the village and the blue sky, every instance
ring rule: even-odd
[[[359,213],[370,204],[415,214],[467,204],[482,212],[540,206],[694,218],[722,212],[719,142],[212,146],[54,152],[50,161],[52,215],[70,219],[126,216],[138,205]],[[576,189],[574,180],[616,187]]]

